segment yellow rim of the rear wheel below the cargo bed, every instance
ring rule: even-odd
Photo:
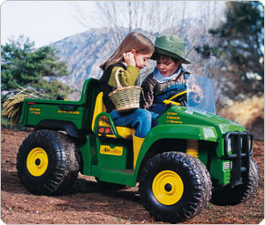
[[[27,156],[26,167],[31,175],[39,177],[48,167],[48,156],[43,148],[33,148]]]

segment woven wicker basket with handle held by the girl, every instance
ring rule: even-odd
[[[138,86],[122,87],[118,81],[118,73],[120,70],[122,68],[118,68],[115,74],[117,89],[109,93],[108,97],[113,102],[117,111],[126,112],[140,106],[139,100],[142,88]]]

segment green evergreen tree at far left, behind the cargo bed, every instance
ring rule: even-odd
[[[19,36],[1,46],[1,87],[10,90],[17,87],[34,87],[36,90],[66,96],[70,88],[56,80],[69,75],[66,62],[58,61],[56,49],[43,46],[35,49],[29,38]]]

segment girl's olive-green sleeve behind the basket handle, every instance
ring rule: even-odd
[[[111,75],[108,81],[108,85],[111,87],[117,87],[115,75],[118,68],[120,68],[120,66],[115,66],[111,70]],[[139,73],[140,69],[138,69],[138,67],[127,66],[127,69],[122,69],[119,72],[118,80],[124,87],[133,86],[138,78]]]

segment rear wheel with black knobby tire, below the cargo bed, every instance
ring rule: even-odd
[[[28,191],[46,195],[62,193],[78,176],[78,148],[63,133],[36,130],[18,149],[16,169],[18,178]]]

